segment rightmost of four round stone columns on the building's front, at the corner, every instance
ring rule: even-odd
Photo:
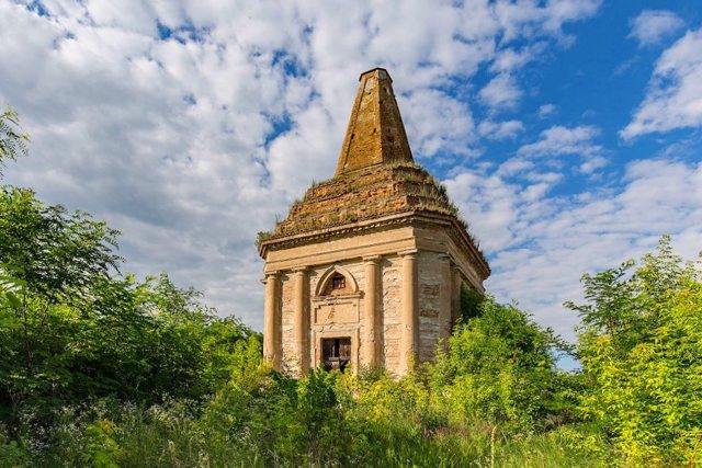
[[[399,373],[411,370],[414,359],[419,354],[417,316],[419,312],[417,295],[417,251],[399,253],[403,258],[403,311],[399,346]]]

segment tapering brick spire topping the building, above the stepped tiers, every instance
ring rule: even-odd
[[[359,81],[336,175],[369,165],[414,161],[387,70],[374,68]]]

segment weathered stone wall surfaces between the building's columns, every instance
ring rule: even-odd
[[[442,336],[442,320],[450,321],[452,313],[442,307],[454,307],[455,299],[442,297],[453,295],[453,285],[446,287],[443,275],[445,274],[445,254],[439,252],[421,251],[417,255],[418,281],[418,310],[417,327],[419,328],[418,359],[431,361],[434,357],[437,344]],[[321,289],[322,281],[329,278],[328,271],[339,266],[339,272],[351,275],[358,290],[349,289],[347,294],[338,296],[316,296]],[[380,284],[376,322],[380,327],[378,339],[381,341],[378,363],[390,372],[396,372],[400,364],[401,345],[401,290],[403,290],[403,264],[398,255],[386,255],[380,261]],[[307,345],[309,367],[318,367],[321,362],[320,341],[322,338],[351,338],[352,365],[365,366],[365,353],[363,353],[365,333],[364,300],[366,290],[365,266],[361,259],[337,262],[310,267],[306,271],[306,323],[308,326]],[[449,282],[453,282],[450,276]],[[348,284],[350,283],[347,279]],[[281,275],[281,312],[282,312],[282,369],[292,374],[298,374],[299,361],[297,356],[297,343],[295,341],[295,286],[293,274]],[[453,306],[452,306],[453,304]],[[443,324],[446,329],[446,324]],[[448,329],[446,329],[448,330]],[[444,330],[444,335],[446,334]]]

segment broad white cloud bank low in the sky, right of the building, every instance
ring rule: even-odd
[[[444,183],[490,259],[486,287],[500,300],[518,299],[567,339],[577,317],[562,304],[581,300],[582,273],[653,251],[664,233],[688,259],[702,249],[702,163],[634,161],[620,189],[569,197],[550,195],[543,181],[510,182],[532,168],[510,165],[516,171],[466,170]]]

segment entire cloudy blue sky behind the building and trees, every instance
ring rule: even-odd
[[[666,232],[702,249],[699,1],[3,1],[0,62],[32,136],[5,181],[107,220],[126,270],[254,328],[256,233],[332,175],[376,66],[488,289],[564,336],[582,273]]]

